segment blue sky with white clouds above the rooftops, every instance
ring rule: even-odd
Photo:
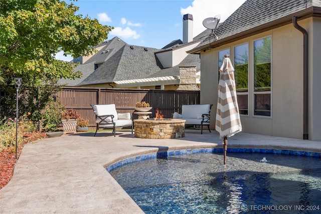
[[[183,41],[183,15],[193,15],[193,37],[206,30],[203,20],[221,16],[224,22],[246,0],[64,0],[79,7],[76,15],[112,26],[108,40],[119,37],[129,45],[161,49]],[[70,61],[57,53],[56,59]]]

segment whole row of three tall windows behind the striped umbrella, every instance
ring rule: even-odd
[[[265,37],[253,43],[236,45],[231,52],[230,49],[218,51],[218,70],[224,55],[228,54],[234,60],[236,95],[241,115],[252,112],[251,116],[271,117],[271,47],[271,37]]]

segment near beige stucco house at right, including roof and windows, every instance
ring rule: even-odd
[[[201,103],[216,109],[228,54],[244,132],[321,140],[321,1],[247,0],[215,35],[187,52],[201,59]]]

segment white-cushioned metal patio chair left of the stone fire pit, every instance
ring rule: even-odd
[[[133,133],[133,120],[130,113],[117,113],[115,104],[91,105],[96,115],[96,136],[99,128],[112,129],[114,137],[116,136],[116,127],[131,126]]]

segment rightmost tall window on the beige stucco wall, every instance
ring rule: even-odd
[[[253,43],[254,115],[271,116],[271,37]]]

